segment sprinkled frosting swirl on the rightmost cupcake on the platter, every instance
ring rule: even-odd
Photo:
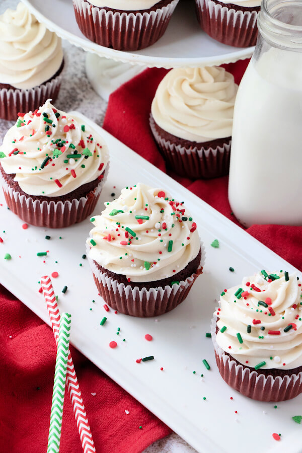
[[[295,274],[265,270],[221,293],[216,342],[259,369],[302,365],[302,292]]]

